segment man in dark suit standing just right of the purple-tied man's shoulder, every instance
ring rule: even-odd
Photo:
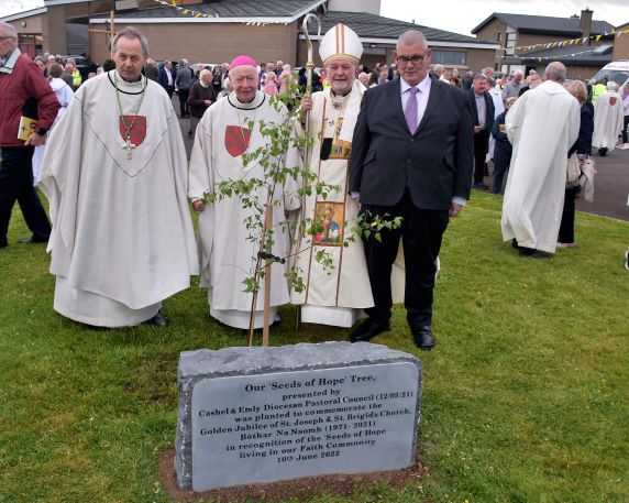
[[[478,74],[474,77],[472,89],[467,92],[472,119],[474,121],[474,188],[489,188],[483,181],[485,160],[489,151],[489,133],[494,125],[494,100],[487,89],[487,77]]]

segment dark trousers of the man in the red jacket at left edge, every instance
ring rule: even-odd
[[[33,236],[46,240],[51,236],[51,223],[46,211],[33,187],[33,146],[1,149],[0,161],[0,242],[7,242],[9,220],[15,200]]]

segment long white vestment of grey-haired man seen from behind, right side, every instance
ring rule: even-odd
[[[554,253],[563,198],[567,151],[578,136],[578,101],[547,80],[525,92],[506,117],[514,154],[503,201],[503,239]]]

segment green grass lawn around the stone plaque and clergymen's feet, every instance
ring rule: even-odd
[[[405,313],[374,340],[424,365],[420,451],[429,477],[331,502],[629,501],[629,225],[577,214],[572,250],[520,258],[500,239],[501,198],[474,193],[441,253],[433,329],[420,352]],[[44,245],[15,210],[0,250],[0,501],[168,502],[180,351],[245,346],[197,287],[164,304],[165,329],[92,331],[53,310]],[[272,345],[346,340],[294,330]]]

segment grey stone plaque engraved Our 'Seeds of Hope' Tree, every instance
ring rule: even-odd
[[[415,461],[421,363],[371,343],[181,353],[175,468],[181,489]]]

